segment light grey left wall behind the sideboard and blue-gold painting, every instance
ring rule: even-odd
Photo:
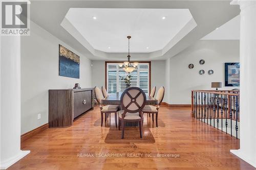
[[[21,38],[22,134],[48,123],[48,90],[92,87],[91,61],[31,21]],[[80,79],[58,76],[58,45],[80,56]],[[37,119],[37,114],[41,119]]]

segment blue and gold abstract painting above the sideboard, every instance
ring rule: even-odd
[[[80,78],[80,57],[59,44],[59,76]]]

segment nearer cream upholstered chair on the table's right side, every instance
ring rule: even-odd
[[[164,97],[164,87],[160,87],[159,90],[157,91],[157,96],[156,96],[156,100],[157,100],[157,105],[156,106],[152,106],[152,105],[146,105],[143,109],[142,112],[143,113],[148,113],[148,114],[152,114],[152,120],[154,122],[154,114],[156,114],[156,126],[158,127],[158,109],[160,107],[160,104],[163,101],[163,97]]]

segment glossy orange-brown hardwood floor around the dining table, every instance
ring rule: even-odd
[[[145,114],[144,138],[139,139],[138,129],[126,128],[127,142],[123,142],[121,131],[113,130],[114,114],[110,122],[100,127],[100,110],[95,108],[76,119],[72,127],[47,129],[22,142],[22,150],[31,153],[8,169],[255,169],[229,152],[239,148],[239,140],[191,118],[189,108],[161,106],[159,110],[158,128],[152,117]],[[111,138],[113,134],[108,134],[111,130],[119,138]],[[126,155],[96,157],[100,153]],[[86,157],[86,154],[94,155]],[[157,157],[157,154],[177,155]]]

